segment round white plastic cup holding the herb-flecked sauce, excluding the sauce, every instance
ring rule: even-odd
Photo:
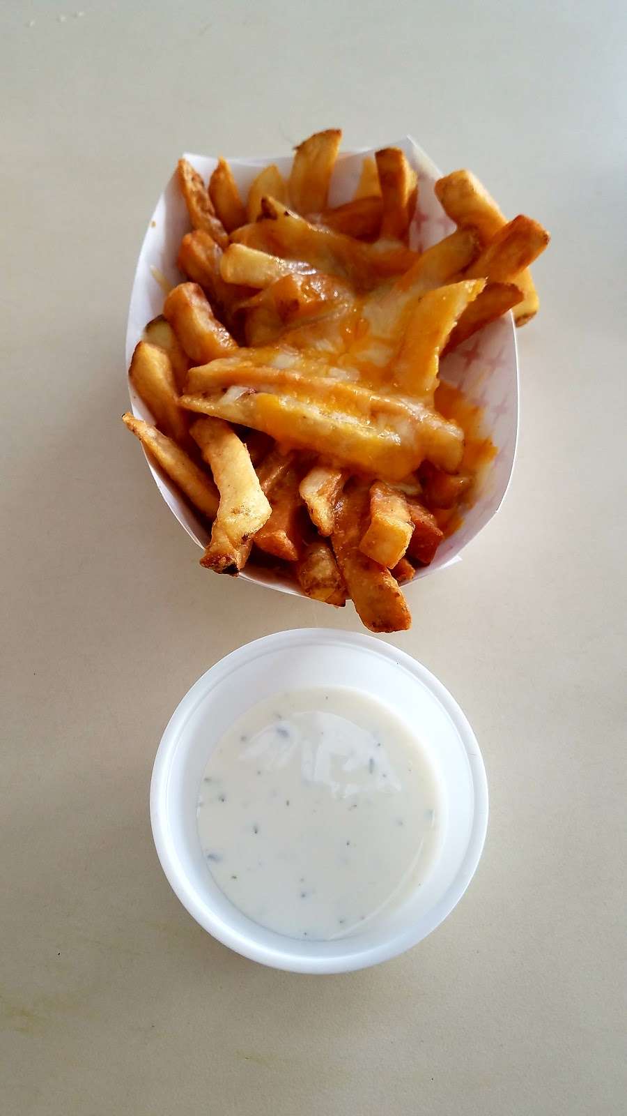
[[[202,855],[196,802],[209,756],[238,716],[286,690],[332,685],[379,698],[421,741],[441,790],[441,844],[426,879],[401,906],[346,937],[303,942],[260,926],[220,891]],[[488,783],[469,722],[424,666],[369,635],[298,628],[232,652],[185,694],[156,754],[151,821],[174,892],[220,942],[276,969],[349,972],[416,945],[459,903],[483,849]]]

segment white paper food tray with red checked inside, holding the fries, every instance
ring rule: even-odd
[[[428,248],[454,231],[437,201],[433,185],[441,172],[427,155],[409,137],[386,146],[402,147],[418,175],[418,204],[411,230],[412,248]],[[373,155],[375,148],[341,154],[334,171],[329,204],[339,205],[353,196],[365,155]],[[186,154],[206,182],[216,165],[216,158],[209,155]],[[276,163],[288,177],[292,156],[267,155],[259,158],[230,158],[235,181],[243,198],[260,169]],[[181,282],[184,277],[176,268],[176,256],[183,235],[189,232],[187,211],[173,174],[165,186],[156,209],[148,222],[144,243],[137,260],[135,280],[128,308],[126,331],[126,367],[131,364],[133,349],[141,340],[147,323],[162,312],[164,294],[158,282],[160,273],[171,283]],[[518,435],[518,362],[514,325],[511,314],[486,326],[469,338],[441,363],[440,378],[463,389],[465,398],[483,410],[483,433],[492,439],[496,455],[485,470],[481,482],[474,485],[472,506],[462,508],[463,522],[457,530],[444,539],[436,556],[423,569],[417,569],[414,580],[459,560],[460,552],[498,511],[513,469]],[[129,384],[133,413],[139,419],[152,421],[152,415]],[[176,516],[187,535],[205,547],[209,532],[193,509],[181,497],[177,489],[148,456],[146,456],[157,488],[170,509]],[[247,567],[240,577],[271,585],[276,589],[301,596],[291,583],[266,569]]]

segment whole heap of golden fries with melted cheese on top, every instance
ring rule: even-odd
[[[251,562],[397,632],[411,624],[399,586],[456,529],[495,452],[478,408],[440,384],[441,358],[512,308],[519,324],[536,311],[529,264],[549,234],[505,221],[456,171],[435,192],[457,229],[418,253],[401,148],[367,156],[354,198],[329,206],[340,138],[299,144],[288,181],[262,167],[245,204],[225,160],[209,186],[179,162],[189,281],[133,355],[155,425],[124,422],[211,522],[201,565]]]

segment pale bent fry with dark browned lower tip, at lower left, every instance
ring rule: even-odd
[[[238,574],[247,562],[252,536],[270,518],[247,446],[229,423],[197,419],[191,427],[220,492],[220,506],[201,566],[219,574]]]

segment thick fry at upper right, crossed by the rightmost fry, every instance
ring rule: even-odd
[[[453,171],[440,179],[434,189],[451,220],[461,229],[476,229],[483,247],[507,223],[494,199],[471,171]],[[538,312],[540,306],[529,268],[517,276],[517,286],[520,287],[522,298],[518,305],[512,304],[515,305],[514,321],[517,326],[522,326]]]

